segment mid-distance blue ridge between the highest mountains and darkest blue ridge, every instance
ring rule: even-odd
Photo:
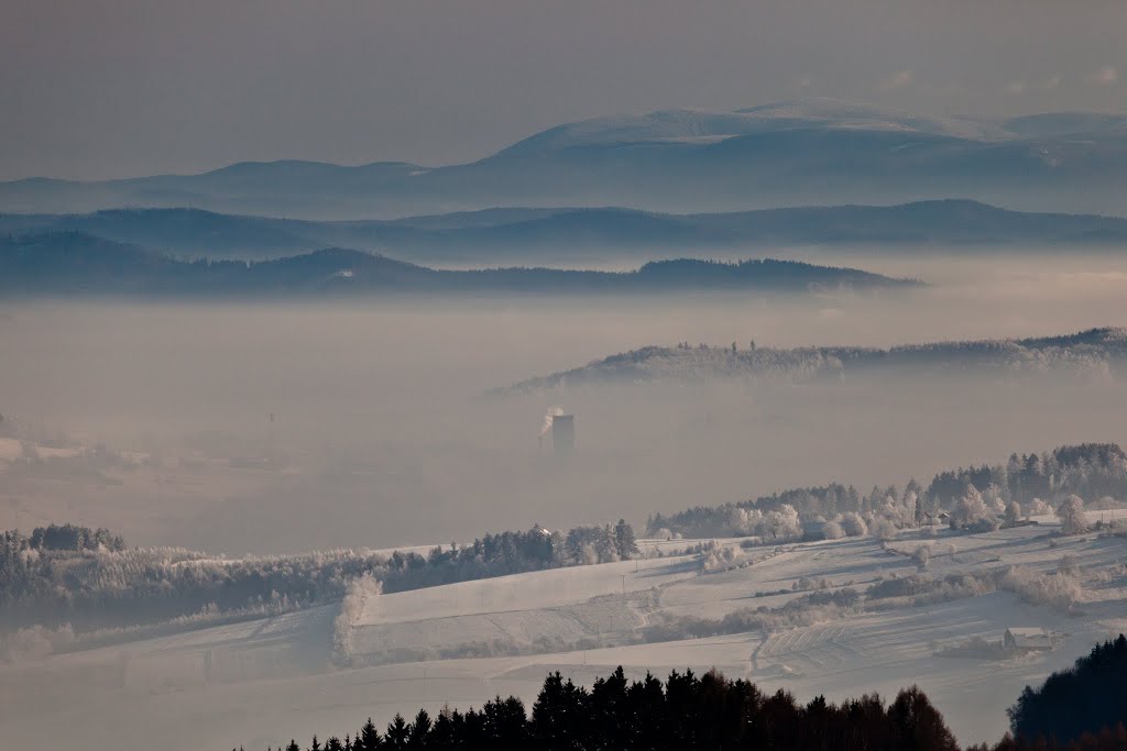
[[[82,232],[183,258],[266,259],[346,247],[424,262],[513,263],[802,245],[1127,247],[1127,220],[1036,214],[970,200],[897,206],[655,214],[625,208],[494,208],[405,220],[314,222],[202,209],[0,214],[0,233]],[[738,252],[736,253],[738,254]]]

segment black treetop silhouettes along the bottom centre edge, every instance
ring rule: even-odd
[[[335,737],[326,751],[341,746]],[[622,668],[591,691],[548,676],[531,717],[523,703],[499,696],[480,710],[443,709],[432,721],[396,715],[382,739],[369,721],[352,751],[957,751],[942,716],[923,691],[902,691],[887,707],[876,695],[840,705],[817,697],[799,705],[786,691],[765,696],[716,671],[650,674],[630,682]],[[320,745],[314,739],[310,751]],[[287,751],[293,751],[289,749]]]

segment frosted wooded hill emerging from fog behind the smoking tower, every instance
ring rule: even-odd
[[[642,347],[496,390],[497,394],[591,384],[712,383],[717,378],[837,379],[913,368],[932,373],[993,370],[1102,374],[1127,366],[1127,329],[1063,337],[946,341],[875,347]]]

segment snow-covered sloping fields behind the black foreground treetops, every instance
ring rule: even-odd
[[[1127,539],[1059,537],[1042,521],[926,539],[906,530],[887,546],[869,537],[757,547],[737,567],[709,573],[695,557],[669,556],[376,594],[353,626],[354,668],[331,662],[335,606],[60,654],[0,669],[0,728],[14,748],[128,750],[160,737],[172,750],[257,749],[354,732],[369,715],[385,723],[397,712],[480,705],[498,694],[531,705],[548,671],[589,683],[622,664],[635,677],[715,667],[800,698],[889,697],[917,683],[960,741],[991,740],[1026,683],[1127,629]],[[1009,565],[1048,573],[1065,558],[1079,566],[1082,596],[1071,613],[995,590],[915,607],[889,600],[886,609],[771,633],[654,641],[648,631],[689,616],[779,608],[807,593],[795,589],[800,580],[863,592],[916,574],[911,556],[922,545],[930,546],[929,578]],[[1023,656],[937,654],[973,637],[997,641],[1010,626],[1046,627],[1061,641]]]

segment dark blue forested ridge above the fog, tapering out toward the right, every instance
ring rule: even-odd
[[[0,294],[251,296],[396,293],[638,294],[905,288],[919,283],[796,261],[671,260],[636,271],[451,271],[331,248],[266,261],[183,261],[80,232],[0,238]]]

